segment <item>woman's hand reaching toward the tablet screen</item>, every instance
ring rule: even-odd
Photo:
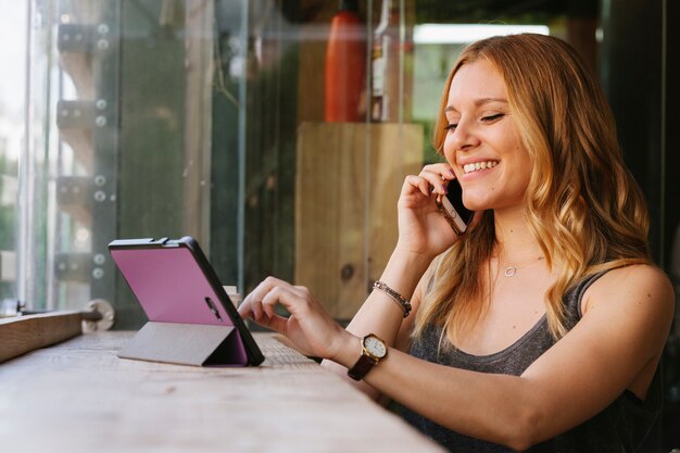
[[[290,316],[276,314],[276,304],[284,305]],[[305,355],[343,365],[343,353],[352,354],[355,349],[358,356],[356,337],[340,327],[305,287],[267,277],[243,300],[239,314],[285,335]]]

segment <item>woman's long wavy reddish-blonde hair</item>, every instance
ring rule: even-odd
[[[644,198],[626,168],[604,93],[571,47],[549,36],[492,37],[464,49],[442,95],[433,146],[443,154],[449,88],[464,64],[487,59],[502,75],[509,109],[533,171],[527,223],[549,267],[561,270],[546,292],[552,335],[566,334],[563,297],[587,275],[648,263]],[[418,310],[414,336],[443,326],[452,344],[489,303],[483,284],[495,250],[493,212],[439,256]],[[484,301],[480,304],[476,301]]]

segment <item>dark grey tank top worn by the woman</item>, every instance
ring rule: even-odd
[[[590,285],[603,274],[584,278],[564,297],[567,309],[567,328],[581,318],[581,299]],[[439,348],[441,327],[429,326],[415,340],[411,354],[429,362],[481,373],[519,376],[554,343],[545,316],[514,344],[490,355],[470,355],[455,348]],[[445,338],[444,338],[445,341]],[[657,369],[645,401],[626,391],[603,412],[576,428],[533,445],[531,453],[609,453],[634,452],[650,431],[662,408],[660,373]],[[403,418],[426,436],[456,453],[495,453],[513,450],[474,439],[446,429],[419,414],[400,407]]]

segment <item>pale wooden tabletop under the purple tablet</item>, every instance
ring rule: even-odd
[[[3,452],[441,452],[339,376],[256,334],[266,361],[118,358],[98,332],[0,364]]]

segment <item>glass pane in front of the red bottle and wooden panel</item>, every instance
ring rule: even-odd
[[[403,176],[423,163],[405,5],[250,2],[245,292],[276,275],[348,319],[380,275]]]

